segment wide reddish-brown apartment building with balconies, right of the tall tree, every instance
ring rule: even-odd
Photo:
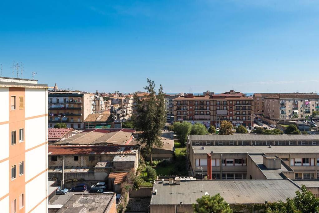
[[[253,101],[241,92],[188,94],[174,99],[174,120],[202,123],[206,127],[219,127],[221,121],[230,121],[234,126],[253,126]]]

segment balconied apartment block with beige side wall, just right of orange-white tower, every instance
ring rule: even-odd
[[[84,129],[84,120],[95,110],[94,95],[81,91],[51,91],[48,94],[49,128],[58,122],[67,128]]]

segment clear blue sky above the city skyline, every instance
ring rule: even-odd
[[[319,1],[1,1],[0,63],[95,92],[319,92]],[[15,75],[16,76],[16,75]]]

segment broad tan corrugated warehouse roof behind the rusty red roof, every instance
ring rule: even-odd
[[[132,139],[133,129],[86,129],[56,144],[114,144],[125,145]]]

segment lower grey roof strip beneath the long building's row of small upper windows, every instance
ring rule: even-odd
[[[319,153],[317,145],[275,145],[272,148],[269,146],[204,146],[205,150],[201,150],[200,146],[192,146],[194,153]]]

